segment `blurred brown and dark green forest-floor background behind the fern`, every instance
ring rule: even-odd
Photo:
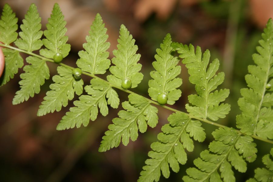
[[[218,58],[220,69],[226,74],[222,87],[231,90],[227,100],[231,104],[231,113],[219,122],[232,127],[236,126],[235,116],[240,113],[237,100],[239,90],[246,87],[244,75],[247,74],[247,65],[253,64],[251,55],[261,39],[262,28],[273,17],[271,0],[1,0],[0,7],[2,9],[5,3],[11,5],[21,24],[32,2],[38,6],[43,29],[53,4],[59,3],[72,46],[70,56],[63,62],[72,66],[76,65],[77,52],[83,49],[82,44],[96,13],[101,14],[108,29],[110,57],[116,49],[120,24],[124,24],[136,39],[140,63],[143,64],[144,79],[138,88],[132,90],[147,97],[155,50],[167,33],[171,33],[173,41],[199,45],[203,51],[209,49],[211,59]],[[194,93],[194,86],[188,81],[187,70],[181,66],[182,97],[172,107],[185,111],[187,95]],[[49,67],[51,76],[55,75],[56,65],[49,63]],[[83,79],[85,84],[89,83],[89,77],[83,76]],[[12,98],[19,90],[18,82],[19,74],[0,89],[0,181],[4,182],[136,181],[150,144],[157,141],[157,133],[171,114],[159,107],[160,119],[156,128],[149,128],[126,147],[120,145],[99,153],[101,138],[121,108],[110,108],[107,117],[99,115],[86,128],[56,131],[56,125],[73,105],[72,101],[60,112],[37,117],[36,112],[52,81],[46,81],[40,94],[34,98],[12,105]],[[127,100],[126,93],[118,91],[118,94],[121,101]],[[195,142],[194,152],[188,153],[188,162],[180,165],[180,172],[171,172],[167,180],[161,176],[160,181],[182,181],[185,170],[193,166],[192,161],[202,150],[207,149],[212,140],[210,133],[216,129],[205,123],[203,127],[207,133],[205,142]],[[258,158],[248,164],[246,173],[235,172],[237,181],[252,177],[253,170],[262,165],[261,157],[269,152],[269,144],[255,142],[258,144]]]

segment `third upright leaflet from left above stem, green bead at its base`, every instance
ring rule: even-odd
[[[68,55],[70,44],[66,43],[68,37],[64,36],[67,31],[65,25],[64,16],[56,3],[46,24],[47,30],[44,31],[46,39],[42,39],[42,42],[46,49],[40,50],[42,56],[52,59],[56,53],[61,53],[63,57]]]

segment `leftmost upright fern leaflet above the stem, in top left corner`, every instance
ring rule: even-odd
[[[8,4],[4,5],[0,20],[0,42],[9,45],[17,39],[18,18]]]

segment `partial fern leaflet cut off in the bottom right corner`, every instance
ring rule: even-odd
[[[270,150],[270,154],[263,157],[263,163],[265,164],[266,168],[257,168],[255,170],[255,179],[251,178],[246,182],[273,181],[273,148]]]

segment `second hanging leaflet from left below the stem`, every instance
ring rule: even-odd
[[[27,101],[29,97],[33,97],[34,93],[40,92],[40,85],[45,83],[45,79],[49,79],[49,68],[45,63],[45,60],[41,60],[37,57],[29,56],[26,58],[26,62],[30,65],[24,67],[25,73],[22,73],[19,81],[21,89],[15,93],[12,104],[19,104],[23,101]]]

